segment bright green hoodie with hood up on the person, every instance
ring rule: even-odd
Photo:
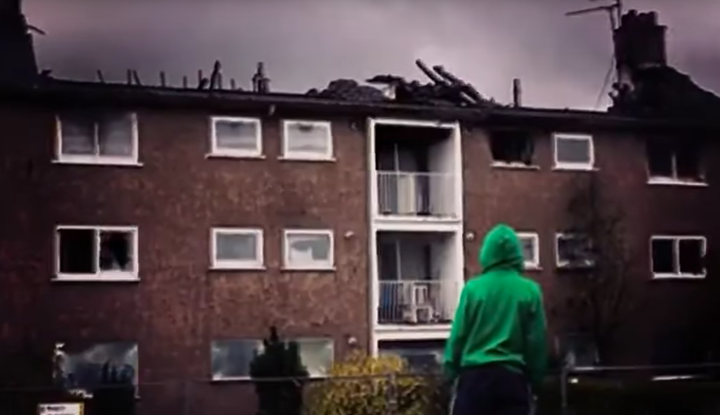
[[[540,286],[521,275],[523,255],[515,231],[497,225],[479,253],[482,274],[465,284],[450,338],[445,370],[500,363],[526,373],[533,387],[545,376],[546,323]]]

